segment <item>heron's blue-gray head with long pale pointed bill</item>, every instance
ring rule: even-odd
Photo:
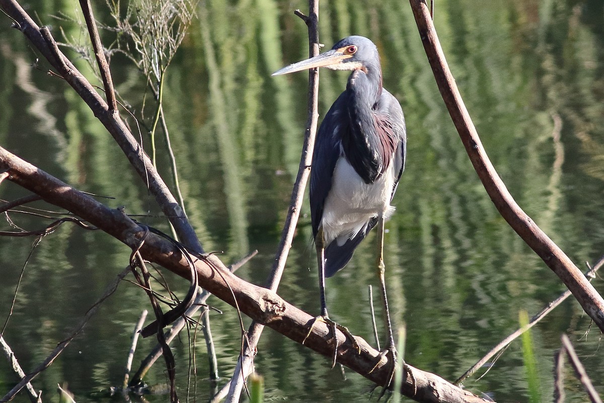
[[[326,67],[332,70],[365,70],[377,66],[379,54],[376,45],[363,36],[349,36],[340,40],[333,48],[318,56],[284,67],[273,76],[294,73],[315,67]]]

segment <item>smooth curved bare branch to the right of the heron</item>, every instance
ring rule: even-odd
[[[422,0],[410,0],[417,28],[428,62],[439,86],[440,94],[457,128],[467,155],[489,197],[510,227],[538,254],[545,264],[564,282],[583,310],[604,332],[604,300],[570,258],[519,207],[506,189],[478,137],[478,132],[461,99],[455,79],[432,24],[428,6]]]

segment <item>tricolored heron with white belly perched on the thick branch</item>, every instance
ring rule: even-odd
[[[315,67],[352,70],[345,91],[321,123],[312,157],[310,214],[321,292],[321,316],[317,318],[330,326],[334,336],[338,327],[354,341],[345,327],[327,315],[325,277],[344,268],[359,242],[378,225],[377,272],[388,331],[384,353],[395,361],[384,282],[384,220],[394,211],[390,202],[405,167],[405,118],[399,102],[382,87],[379,54],[371,40],[346,37],[331,50],[272,75]],[[337,349],[336,338],[335,353]]]

